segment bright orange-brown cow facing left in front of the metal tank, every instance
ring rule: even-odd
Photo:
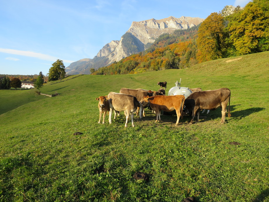
[[[156,122],[161,120],[161,110],[165,112],[171,112],[176,110],[177,122],[183,111],[185,97],[183,95],[156,95],[156,96],[144,96],[143,102],[148,102],[152,110],[156,111]]]

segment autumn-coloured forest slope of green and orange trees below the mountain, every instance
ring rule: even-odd
[[[91,69],[95,75],[132,74],[163,69],[184,69],[213,59],[269,50],[269,1],[253,0],[230,11],[225,6],[199,26],[164,33],[144,52],[109,66]]]

